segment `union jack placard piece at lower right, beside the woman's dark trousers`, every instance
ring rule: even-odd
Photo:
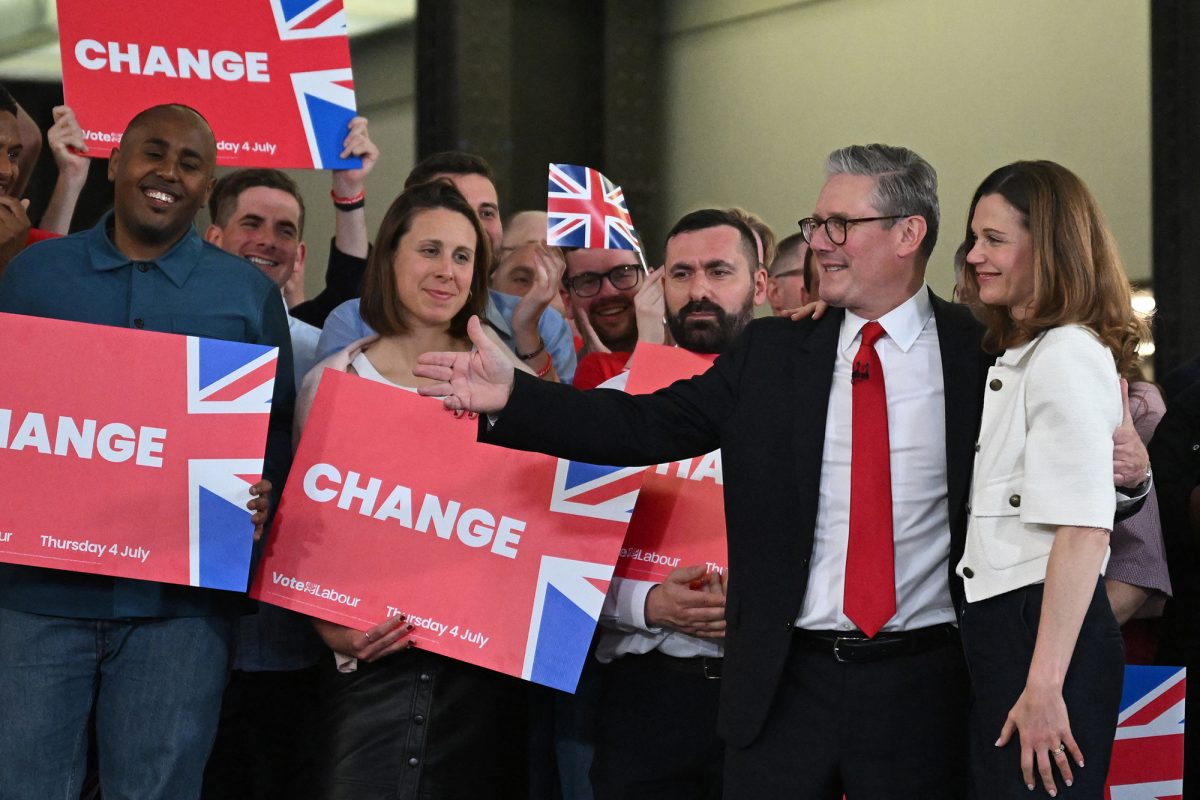
[[[1126,667],[1106,800],[1183,796],[1186,694],[1182,667]]]

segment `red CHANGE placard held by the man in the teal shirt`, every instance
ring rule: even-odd
[[[245,591],[277,355],[0,314],[0,561]]]

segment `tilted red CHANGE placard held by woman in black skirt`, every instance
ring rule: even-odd
[[[575,691],[625,535],[587,494],[607,468],[475,434],[326,371],[251,595],[359,630],[406,614],[427,650]]]

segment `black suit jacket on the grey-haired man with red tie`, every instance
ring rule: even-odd
[[[931,295],[932,296],[932,295]],[[946,386],[953,575],[983,404],[986,359],[970,312],[932,296]],[[710,369],[653,395],[575,391],[518,373],[484,441],[601,464],[656,464],[721,449],[728,534],[728,622],[720,733],[737,747],[762,729],[804,599],[826,413],[844,313],[751,323]]]

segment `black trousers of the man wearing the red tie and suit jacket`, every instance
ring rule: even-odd
[[[962,800],[967,676],[947,642],[863,663],[792,642],[766,726],[728,747],[731,800]]]

